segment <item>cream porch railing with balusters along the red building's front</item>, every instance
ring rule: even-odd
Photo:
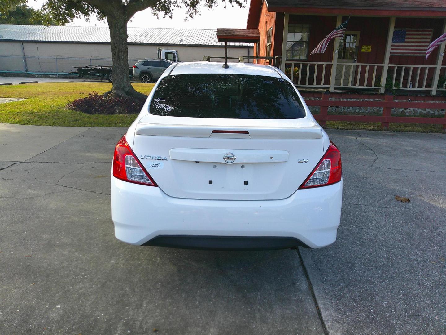
[[[330,78],[332,63],[289,62],[285,64],[285,74],[297,87],[329,88],[335,80],[335,88],[381,88],[384,64],[338,63],[336,77]],[[430,90],[435,65],[389,64],[386,88],[404,90]],[[442,80],[442,78],[444,78]],[[440,71],[440,90],[446,90],[446,66]]]

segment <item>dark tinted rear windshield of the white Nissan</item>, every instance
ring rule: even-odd
[[[153,95],[149,113],[229,119],[305,117],[302,102],[287,80],[233,74],[164,77]]]

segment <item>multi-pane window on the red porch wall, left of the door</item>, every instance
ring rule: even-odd
[[[286,59],[307,59],[310,25],[289,24]]]

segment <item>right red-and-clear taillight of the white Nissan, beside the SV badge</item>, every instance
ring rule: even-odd
[[[341,181],[341,178],[341,153],[338,147],[330,141],[330,147],[299,189],[335,184]]]

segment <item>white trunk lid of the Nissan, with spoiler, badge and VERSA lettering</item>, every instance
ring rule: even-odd
[[[274,200],[293,194],[323,155],[310,118],[208,119],[147,115],[133,151],[169,196]]]

